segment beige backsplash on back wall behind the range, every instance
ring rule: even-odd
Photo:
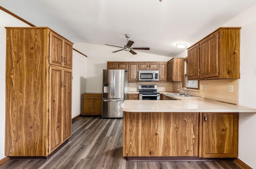
[[[172,91],[172,82],[128,82],[128,92],[138,91],[138,85],[157,85],[157,91]]]

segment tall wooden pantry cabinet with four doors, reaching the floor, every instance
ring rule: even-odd
[[[71,136],[72,43],[47,27],[6,28],[6,156],[46,157]]]

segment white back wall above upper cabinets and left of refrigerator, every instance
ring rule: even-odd
[[[74,48],[83,52],[87,58],[86,92],[102,92],[102,70],[107,69],[107,61],[169,61],[172,57],[141,53],[136,55],[128,51],[112,53],[119,48],[90,43],[76,43]],[[135,51],[135,50],[134,50]]]

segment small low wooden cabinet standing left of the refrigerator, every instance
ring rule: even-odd
[[[102,114],[102,93],[83,93],[81,115]]]

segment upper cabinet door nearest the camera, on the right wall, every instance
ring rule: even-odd
[[[218,76],[218,31],[200,42],[200,78]]]

